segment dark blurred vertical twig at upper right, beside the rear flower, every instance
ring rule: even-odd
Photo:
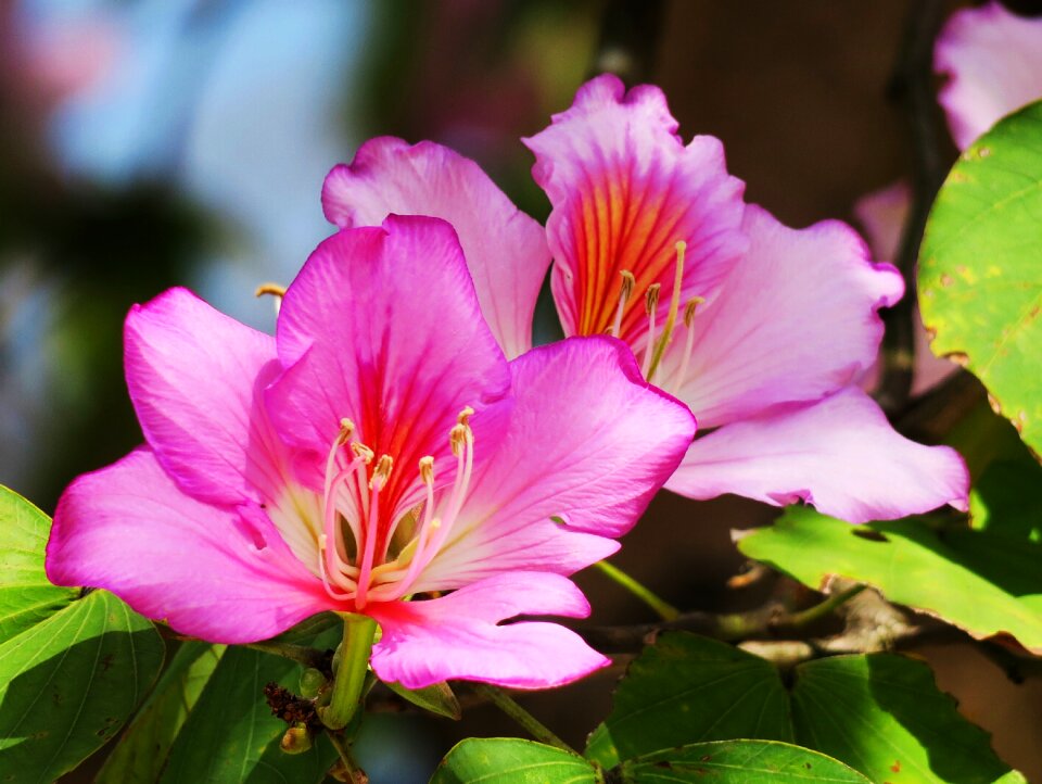
[[[933,94],[933,41],[944,16],[943,0],[910,3],[904,38],[891,93],[904,109],[912,141],[912,205],[901,233],[894,263],[904,278],[905,295],[884,312],[886,333],[880,358],[882,374],[876,397],[889,414],[901,410],[912,392],[915,372],[915,261],[923,230],[946,165],[938,149],[941,134]]]

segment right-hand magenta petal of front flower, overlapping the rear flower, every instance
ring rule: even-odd
[[[569,574],[608,557],[603,538],[633,527],[695,435],[687,407],[649,385],[613,338],[533,349],[510,370],[509,427],[497,443],[475,439],[472,492],[418,590],[511,569]]]

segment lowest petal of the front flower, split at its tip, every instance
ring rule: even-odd
[[[371,605],[383,636],[372,669],[382,681],[422,688],[449,679],[549,688],[610,663],[556,623],[498,625],[519,615],[584,618],[589,605],[567,578],[512,572],[430,602]]]

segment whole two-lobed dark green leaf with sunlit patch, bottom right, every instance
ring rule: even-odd
[[[662,769],[656,781],[689,781],[662,766],[677,754],[670,746],[721,734],[757,738],[766,733],[822,751],[875,782],[1024,781],[991,750],[987,734],[956,712],[955,700],[937,688],[930,669],[919,661],[891,654],[808,661],[792,670],[789,694],[782,675],[766,662],[740,667],[747,657],[736,653],[728,667],[728,657],[720,652],[722,643],[673,632],[663,634],[659,646],[668,654],[656,653],[658,646],[652,646],[634,660],[617,692],[615,707],[588,751],[601,764],[613,764],[610,746],[600,739],[610,733],[624,760],[622,770],[639,770],[645,776],[632,781],[651,781],[653,764]],[[661,681],[656,662],[664,662]],[[709,672],[702,672],[707,666]],[[677,699],[663,698],[670,682],[676,684]],[[698,688],[684,695],[692,683]],[[657,732],[662,739],[657,739]],[[683,757],[688,762],[694,758],[694,753]],[[733,781],[761,780],[755,770],[744,772],[746,779]]]

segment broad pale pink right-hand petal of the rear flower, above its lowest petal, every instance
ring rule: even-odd
[[[676,392],[703,429],[853,381],[882,338],[876,311],[903,291],[898,271],[873,264],[846,224],[795,230],[751,205],[745,226],[752,244],[720,299],[695,316],[695,347]],[[677,336],[658,377],[666,389],[684,346]]]

